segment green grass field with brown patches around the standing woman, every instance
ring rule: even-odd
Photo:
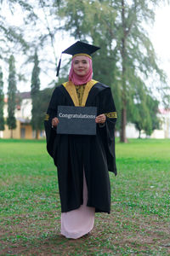
[[[111,214],[68,240],[45,142],[0,140],[0,255],[170,255],[170,140],[116,143],[116,164]]]

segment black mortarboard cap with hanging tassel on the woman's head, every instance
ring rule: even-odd
[[[91,55],[98,49],[100,49],[98,46],[77,41],[77,43],[72,44],[69,48],[62,51],[62,54],[72,55],[72,57],[75,57],[77,55],[88,55],[88,57],[91,58]],[[59,65],[57,67],[57,77],[59,76],[60,64],[61,57],[59,59]]]

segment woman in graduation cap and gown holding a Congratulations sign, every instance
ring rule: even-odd
[[[55,88],[45,119],[48,153],[58,169],[61,234],[77,239],[94,227],[95,212],[111,211],[109,172],[116,175],[116,108],[111,88],[92,79],[91,55],[99,49],[78,41],[69,81]],[[58,134],[58,106],[97,107],[96,135]]]

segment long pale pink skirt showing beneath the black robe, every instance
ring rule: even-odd
[[[94,227],[95,208],[87,207],[88,188],[83,174],[83,205],[76,210],[61,213],[61,235],[77,239]]]

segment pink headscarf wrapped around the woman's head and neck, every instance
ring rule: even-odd
[[[73,61],[74,61],[75,57],[71,61],[71,70],[69,73],[69,81],[72,81],[72,83],[75,85],[87,84],[88,81],[90,81],[92,79],[92,76],[93,76],[92,60],[88,56],[86,56],[86,58],[88,59],[88,62],[89,62],[89,68],[88,68],[88,73],[84,76],[78,76],[74,72]]]

